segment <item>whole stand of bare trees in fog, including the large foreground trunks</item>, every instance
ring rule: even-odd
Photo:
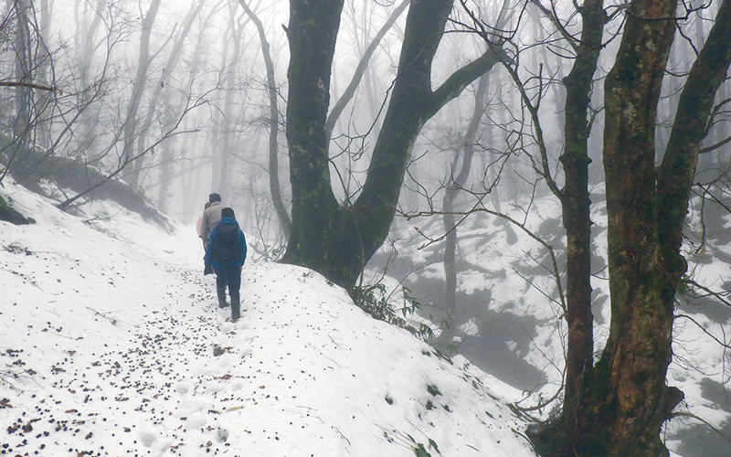
[[[661,431],[683,407],[667,382],[679,297],[728,304],[688,261],[706,247],[705,230],[689,234],[689,220],[704,224],[696,207],[729,212],[731,0],[0,11],[0,183],[69,211],[115,199],[166,226],[192,222],[216,191],[259,259],[318,271],[356,302],[373,291],[365,273],[388,270],[392,239],[423,224],[443,282],[431,343],[445,350],[465,321],[461,228],[489,218],[526,233],[562,352],[555,395],[527,408],[555,411],[530,432],[536,451],[668,455]],[[540,199],[560,207],[550,235],[528,223]]]

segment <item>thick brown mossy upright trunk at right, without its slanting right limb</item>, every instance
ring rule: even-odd
[[[605,84],[609,339],[588,411],[590,455],[665,456],[662,422],[682,398],[665,385],[673,331],[656,215],[654,130],[676,0],[634,0]],[[584,452],[583,455],[588,455]]]

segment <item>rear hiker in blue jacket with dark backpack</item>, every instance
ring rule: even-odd
[[[246,260],[246,238],[234,215],[234,210],[225,207],[221,210],[221,220],[211,231],[206,247],[206,266],[212,266],[216,273],[216,292],[218,307],[225,308],[226,286],[231,296],[231,319],[237,320],[240,314],[241,300],[238,290],[241,288],[241,267]]]

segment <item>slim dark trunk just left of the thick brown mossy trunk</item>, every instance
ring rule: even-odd
[[[588,195],[588,111],[594,73],[607,22],[602,0],[587,0],[580,9],[581,37],[577,57],[567,77],[565,146],[559,160],[564,168],[561,190],[564,227],[567,232],[567,358],[564,410],[567,446],[575,447],[592,427],[583,399],[590,396],[589,375],[594,365],[594,316],[591,313],[591,201]]]

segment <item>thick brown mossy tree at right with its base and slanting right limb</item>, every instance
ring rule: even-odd
[[[685,81],[662,165],[656,168],[655,119],[673,43],[675,7],[675,0],[631,3],[606,81],[609,339],[596,366],[590,366],[588,339],[580,345],[584,351],[574,354],[584,356],[572,359],[570,346],[576,342],[569,320],[567,399],[560,420],[538,435],[549,444],[546,455],[669,453],[660,439],[662,423],[683,399],[665,380],[672,357],[675,293],[686,270],[680,253],[683,221],[715,92],[731,65],[731,0],[724,0]],[[566,159],[562,161],[566,166]]]

